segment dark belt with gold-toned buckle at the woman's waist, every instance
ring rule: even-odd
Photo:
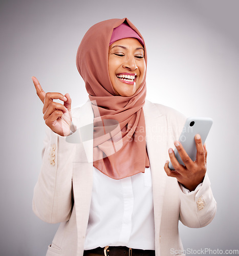
[[[128,248],[126,246],[105,246],[91,250],[84,250],[84,256],[95,253],[104,256],[155,256],[155,250],[141,250]]]

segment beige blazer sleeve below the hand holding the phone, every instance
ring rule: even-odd
[[[180,221],[193,228],[204,227],[214,218],[216,213],[216,201],[212,195],[210,181],[206,173],[199,189],[188,194],[183,193],[179,186],[180,194]]]

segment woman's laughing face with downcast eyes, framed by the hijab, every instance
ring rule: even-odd
[[[142,84],[145,72],[144,48],[138,39],[120,39],[109,47],[108,73],[116,95],[134,95]]]

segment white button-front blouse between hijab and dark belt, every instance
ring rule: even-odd
[[[94,167],[84,249],[106,245],[155,249],[150,168],[145,168],[145,173],[115,180]]]

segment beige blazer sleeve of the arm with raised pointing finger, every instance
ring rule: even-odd
[[[42,166],[33,194],[33,211],[42,221],[68,221],[71,215],[74,144],[46,126]]]

